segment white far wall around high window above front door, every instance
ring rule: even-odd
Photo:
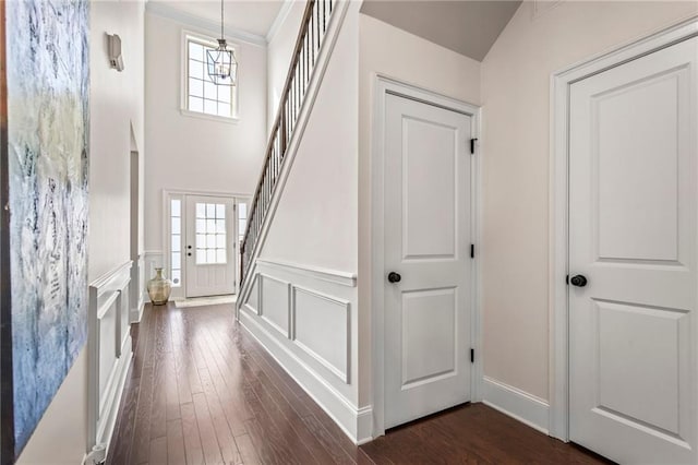
[[[182,29],[216,37],[146,13],[145,249],[163,251],[163,189],[251,194],[266,145],[266,50],[232,41],[239,65],[239,121],[180,112]]]

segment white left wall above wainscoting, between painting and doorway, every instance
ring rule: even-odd
[[[141,2],[92,4],[89,281],[130,258],[131,127],[142,159],[145,146],[143,14]],[[109,68],[107,33],[121,37],[122,72]]]

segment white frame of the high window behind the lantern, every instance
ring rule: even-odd
[[[181,71],[180,71],[180,114],[188,117],[208,119],[214,121],[221,121],[228,123],[237,123],[240,120],[239,109],[239,87],[240,87],[240,68],[238,68],[238,83],[231,90],[231,103],[230,115],[219,116],[210,115],[203,111],[195,111],[189,109],[189,43],[194,41],[207,47],[217,47],[218,43],[215,38],[205,34],[195,33],[192,31],[182,29],[181,33]],[[234,50],[236,58],[240,58],[240,48],[237,44],[228,41],[228,48]],[[205,51],[204,51],[205,52]],[[205,64],[205,63],[204,63]]]

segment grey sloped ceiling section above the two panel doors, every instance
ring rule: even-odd
[[[482,61],[520,0],[364,0],[361,12]]]

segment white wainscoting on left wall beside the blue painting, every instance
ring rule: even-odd
[[[108,450],[131,362],[132,262],[89,285],[87,339],[88,448]]]

